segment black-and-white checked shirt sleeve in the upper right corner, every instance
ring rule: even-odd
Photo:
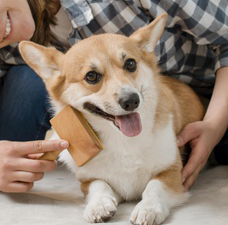
[[[161,2],[164,4],[164,1]],[[170,2],[167,8],[168,27],[181,26],[195,43],[214,49],[215,70],[228,66],[227,0],[182,0],[179,4],[167,2]]]

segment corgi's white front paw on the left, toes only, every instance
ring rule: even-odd
[[[89,223],[108,221],[116,213],[117,201],[112,196],[93,198],[86,206],[84,218]]]

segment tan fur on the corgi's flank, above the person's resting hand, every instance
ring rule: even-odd
[[[157,109],[156,121],[158,124],[162,123],[164,118],[167,121],[167,114],[172,112],[175,133],[178,134],[188,123],[203,118],[204,108],[198,96],[189,86],[166,76],[159,76],[159,83],[161,85],[159,88],[161,103]]]

